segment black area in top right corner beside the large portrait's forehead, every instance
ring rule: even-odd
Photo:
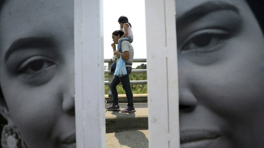
[[[264,0],[246,0],[264,34]]]

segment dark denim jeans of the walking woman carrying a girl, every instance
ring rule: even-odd
[[[128,99],[128,107],[131,107],[131,108],[134,107],[133,93],[131,90],[130,80],[129,80],[129,74],[131,73],[131,69],[132,69],[131,67],[127,67],[126,68],[126,71],[128,72],[127,75],[125,75],[123,77],[117,77],[115,75],[114,78],[112,79],[112,81],[110,83],[110,88],[111,88],[112,95],[113,95],[113,105],[118,105],[116,86],[121,82],[123,85],[123,89],[126,92],[126,98]]]

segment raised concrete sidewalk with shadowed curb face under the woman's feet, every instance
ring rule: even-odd
[[[107,103],[105,107],[110,106]],[[119,103],[119,106],[126,108],[127,103]],[[147,103],[134,103],[136,112],[121,113],[120,111],[105,110],[106,132],[118,132],[128,129],[148,128]]]

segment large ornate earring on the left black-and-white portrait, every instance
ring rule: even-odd
[[[3,126],[1,144],[3,148],[27,148],[15,125]]]

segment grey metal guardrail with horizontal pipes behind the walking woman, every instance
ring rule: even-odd
[[[104,59],[104,62],[108,63],[108,70],[104,70],[105,74],[108,74],[108,81],[105,81],[105,85],[109,85],[114,77],[114,75],[111,73],[111,65],[114,63],[114,61],[115,59]],[[135,62],[147,62],[147,59],[133,59],[133,63]],[[147,69],[132,69],[131,73],[147,73]],[[147,80],[131,80],[130,84],[147,84]],[[110,87],[108,88],[108,95],[112,96]]]

